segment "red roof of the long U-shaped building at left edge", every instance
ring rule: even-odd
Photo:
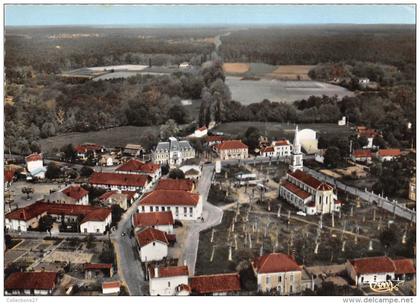
[[[42,201],[38,201],[24,208],[13,210],[12,212],[7,213],[5,217],[9,220],[28,221],[44,213],[57,214],[57,215],[65,214],[65,215],[83,216],[84,218],[82,219],[82,221],[84,221],[85,217],[87,217],[92,212],[93,214],[89,217],[99,218],[99,217],[102,217],[106,213],[107,214],[111,213],[111,209],[86,206],[86,205],[44,203]]]

